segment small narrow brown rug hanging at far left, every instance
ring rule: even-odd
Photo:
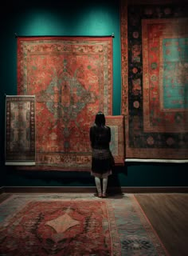
[[[6,166],[35,165],[35,96],[6,95]]]

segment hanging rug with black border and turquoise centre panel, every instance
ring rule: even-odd
[[[185,6],[121,2],[126,160],[188,159],[188,19]]]

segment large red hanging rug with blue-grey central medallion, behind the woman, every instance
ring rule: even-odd
[[[89,126],[112,114],[112,37],[19,37],[18,94],[36,95],[33,168],[90,170]]]

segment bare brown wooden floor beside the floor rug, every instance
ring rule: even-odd
[[[135,194],[170,256],[188,255],[188,194]]]

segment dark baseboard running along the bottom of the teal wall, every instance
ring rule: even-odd
[[[0,193],[95,193],[94,186],[2,186]],[[108,187],[109,194],[122,193],[188,193],[188,186]]]

